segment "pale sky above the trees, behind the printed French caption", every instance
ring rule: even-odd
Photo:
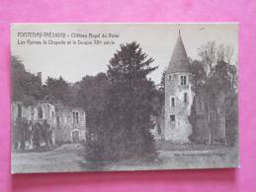
[[[198,49],[209,40],[216,44],[223,43],[234,47],[232,62],[237,61],[238,25],[237,24],[17,24],[11,29],[11,53],[19,56],[31,73],[42,72],[43,82],[49,77],[61,76],[69,83],[80,81],[86,75],[96,75],[107,71],[107,65],[121,43],[136,41],[143,52],[152,57],[152,66],[158,68],[149,75],[156,84],[167,68],[174,48],[178,31],[187,54],[192,59],[199,59]],[[114,41],[104,45],[39,45],[19,44],[28,37],[19,36],[18,32],[65,32],[64,40]],[[119,37],[71,37],[71,33],[118,34]],[[32,37],[33,40],[61,40],[61,37]],[[18,43],[19,40],[19,43]],[[94,42],[94,41],[93,41]]]

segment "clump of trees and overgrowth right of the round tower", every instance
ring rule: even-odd
[[[209,41],[199,49],[201,61],[191,64],[196,94],[190,115],[192,142],[228,145],[237,142],[237,69],[236,61],[231,63],[232,54],[230,46],[216,46]],[[217,141],[216,137],[220,139]]]

